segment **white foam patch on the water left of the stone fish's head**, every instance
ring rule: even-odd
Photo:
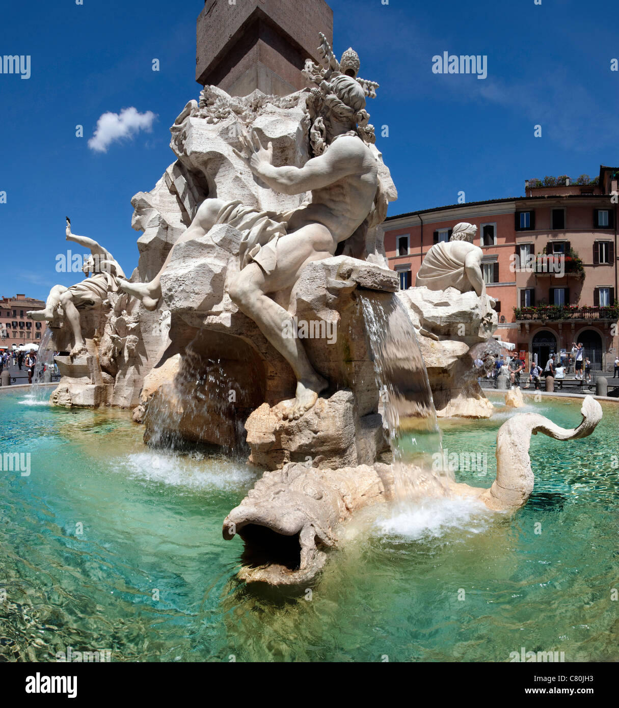
[[[206,464],[205,464],[206,462]],[[112,462],[115,472],[126,471],[135,479],[147,479],[188,489],[238,489],[255,478],[242,464],[225,459],[203,459],[165,454],[154,450],[135,452]]]

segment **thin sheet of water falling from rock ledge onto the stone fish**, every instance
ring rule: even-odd
[[[360,304],[389,433],[396,503],[419,493],[444,496],[453,472],[433,464],[441,455],[441,430],[406,309],[395,295],[370,291],[360,293]]]

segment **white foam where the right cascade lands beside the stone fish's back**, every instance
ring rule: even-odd
[[[390,517],[377,519],[376,530],[406,540],[440,538],[453,530],[477,534],[487,529],[493,516],[475,497],[427,498],[398,506]]]

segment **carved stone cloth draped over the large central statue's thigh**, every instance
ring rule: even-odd
[[[239,248],[239,268],[255,261],[266,275],[271,275],[277,265],[277,242],[285,236],[288,219],[293,212],[261,212],[244,207],[239,200],[225,204],[217,215],[215,224],[229,224],[243,234]]]

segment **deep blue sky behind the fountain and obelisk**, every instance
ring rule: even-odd
[[[242,3],[243,0],[237,0]],[[619,164],[619,3],[331,0],[334,49],[360,54],[377,145],[399,190],[390,215],[522,196],[526,178]],[[174,161],[169,126],[195,83],[202,0],[4,0],[0,55],[30,55],[28,80],[0,74],[0,295],[45,299],[65,253],[64,217],[137,265],[130,199]],[[432,57],[486,55],[487,79],[433,74]],[[160,71],[152,71],[159,59]],[[89,148],[104,113],[151,111],[152,130]],[[542,125],[542,137],[533,135]],[[84,137],[75,136],[76,125]],[[389,137],[380,137],[381,127]]]

